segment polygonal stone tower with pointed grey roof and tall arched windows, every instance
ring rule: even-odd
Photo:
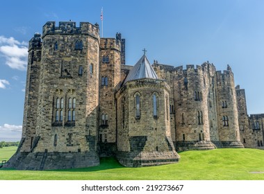
[[[124,166],[179,161],[170,136],[170,87],[159,80],[146,55],[117,92],[117,159]]]

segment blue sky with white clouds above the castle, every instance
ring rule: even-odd
[[[21,136],[28,40],[47,21],[101,26],[102,7],[104,37],[122,33],[126,64],[135,64],[143,48],[150,62],[175,67],[229,64],[236,85],[246,89],[248,113],[264,113],[264,1],[8,0],[0,6],[0,141]]]

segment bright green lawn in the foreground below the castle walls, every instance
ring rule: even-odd
[[[104,158],[101,159],[100,166],[90,168],[47,171],[0,169],[0,179],[264,180],[264,150],[247,148],[193,150],[180,152],[179,155],[181,161],[178,164],[143,168],[125,168],[114,158]]]

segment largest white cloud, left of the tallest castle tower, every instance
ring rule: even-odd
[[[19,42],[13,37],[0,36],[0,57],[12,69],[26,70],[28,48],[26,42]]]

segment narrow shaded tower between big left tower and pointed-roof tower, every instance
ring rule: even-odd
[[[119,39],[100,39],[99,152],[101,156],[114,155],[116,150],[115,93],[120,85],[120,51],[121,42]]]

